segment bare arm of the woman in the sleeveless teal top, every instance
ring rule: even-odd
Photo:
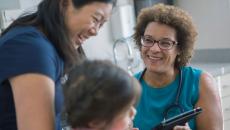
[[[197,130],[223,130],[223,115],[219,91],[214,78],[203,73],[200,78],[200,94],[196,106],[203,112],[197,116]]]

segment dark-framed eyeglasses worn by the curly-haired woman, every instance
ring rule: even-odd
[[[176,41],[170,39],[154,40],[151,36],[142,36],[141,45],[144,47],[151,47],[157,43],[158,47],[162,50],[170,50],[174,45],[177,45]]]

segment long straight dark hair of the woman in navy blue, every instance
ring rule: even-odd
[[[61,3],[62,2],[62,3]],[[116,3],[116,0],[72,0],[76,8],[83,7],[92,2]],[[74,48],[68,37],[67,27],[65,25],[64,11],[66,0],[43,0],[36,12],[21,15],[8,28],[6,28],[2,35],[8,32],[15,26],[36,26],[47,36],[51,43],[56,48],[58,54],[65,62],[65,70],[71,68],[74,64],[85,58],[85,53],[82,47],[78,50]]]

